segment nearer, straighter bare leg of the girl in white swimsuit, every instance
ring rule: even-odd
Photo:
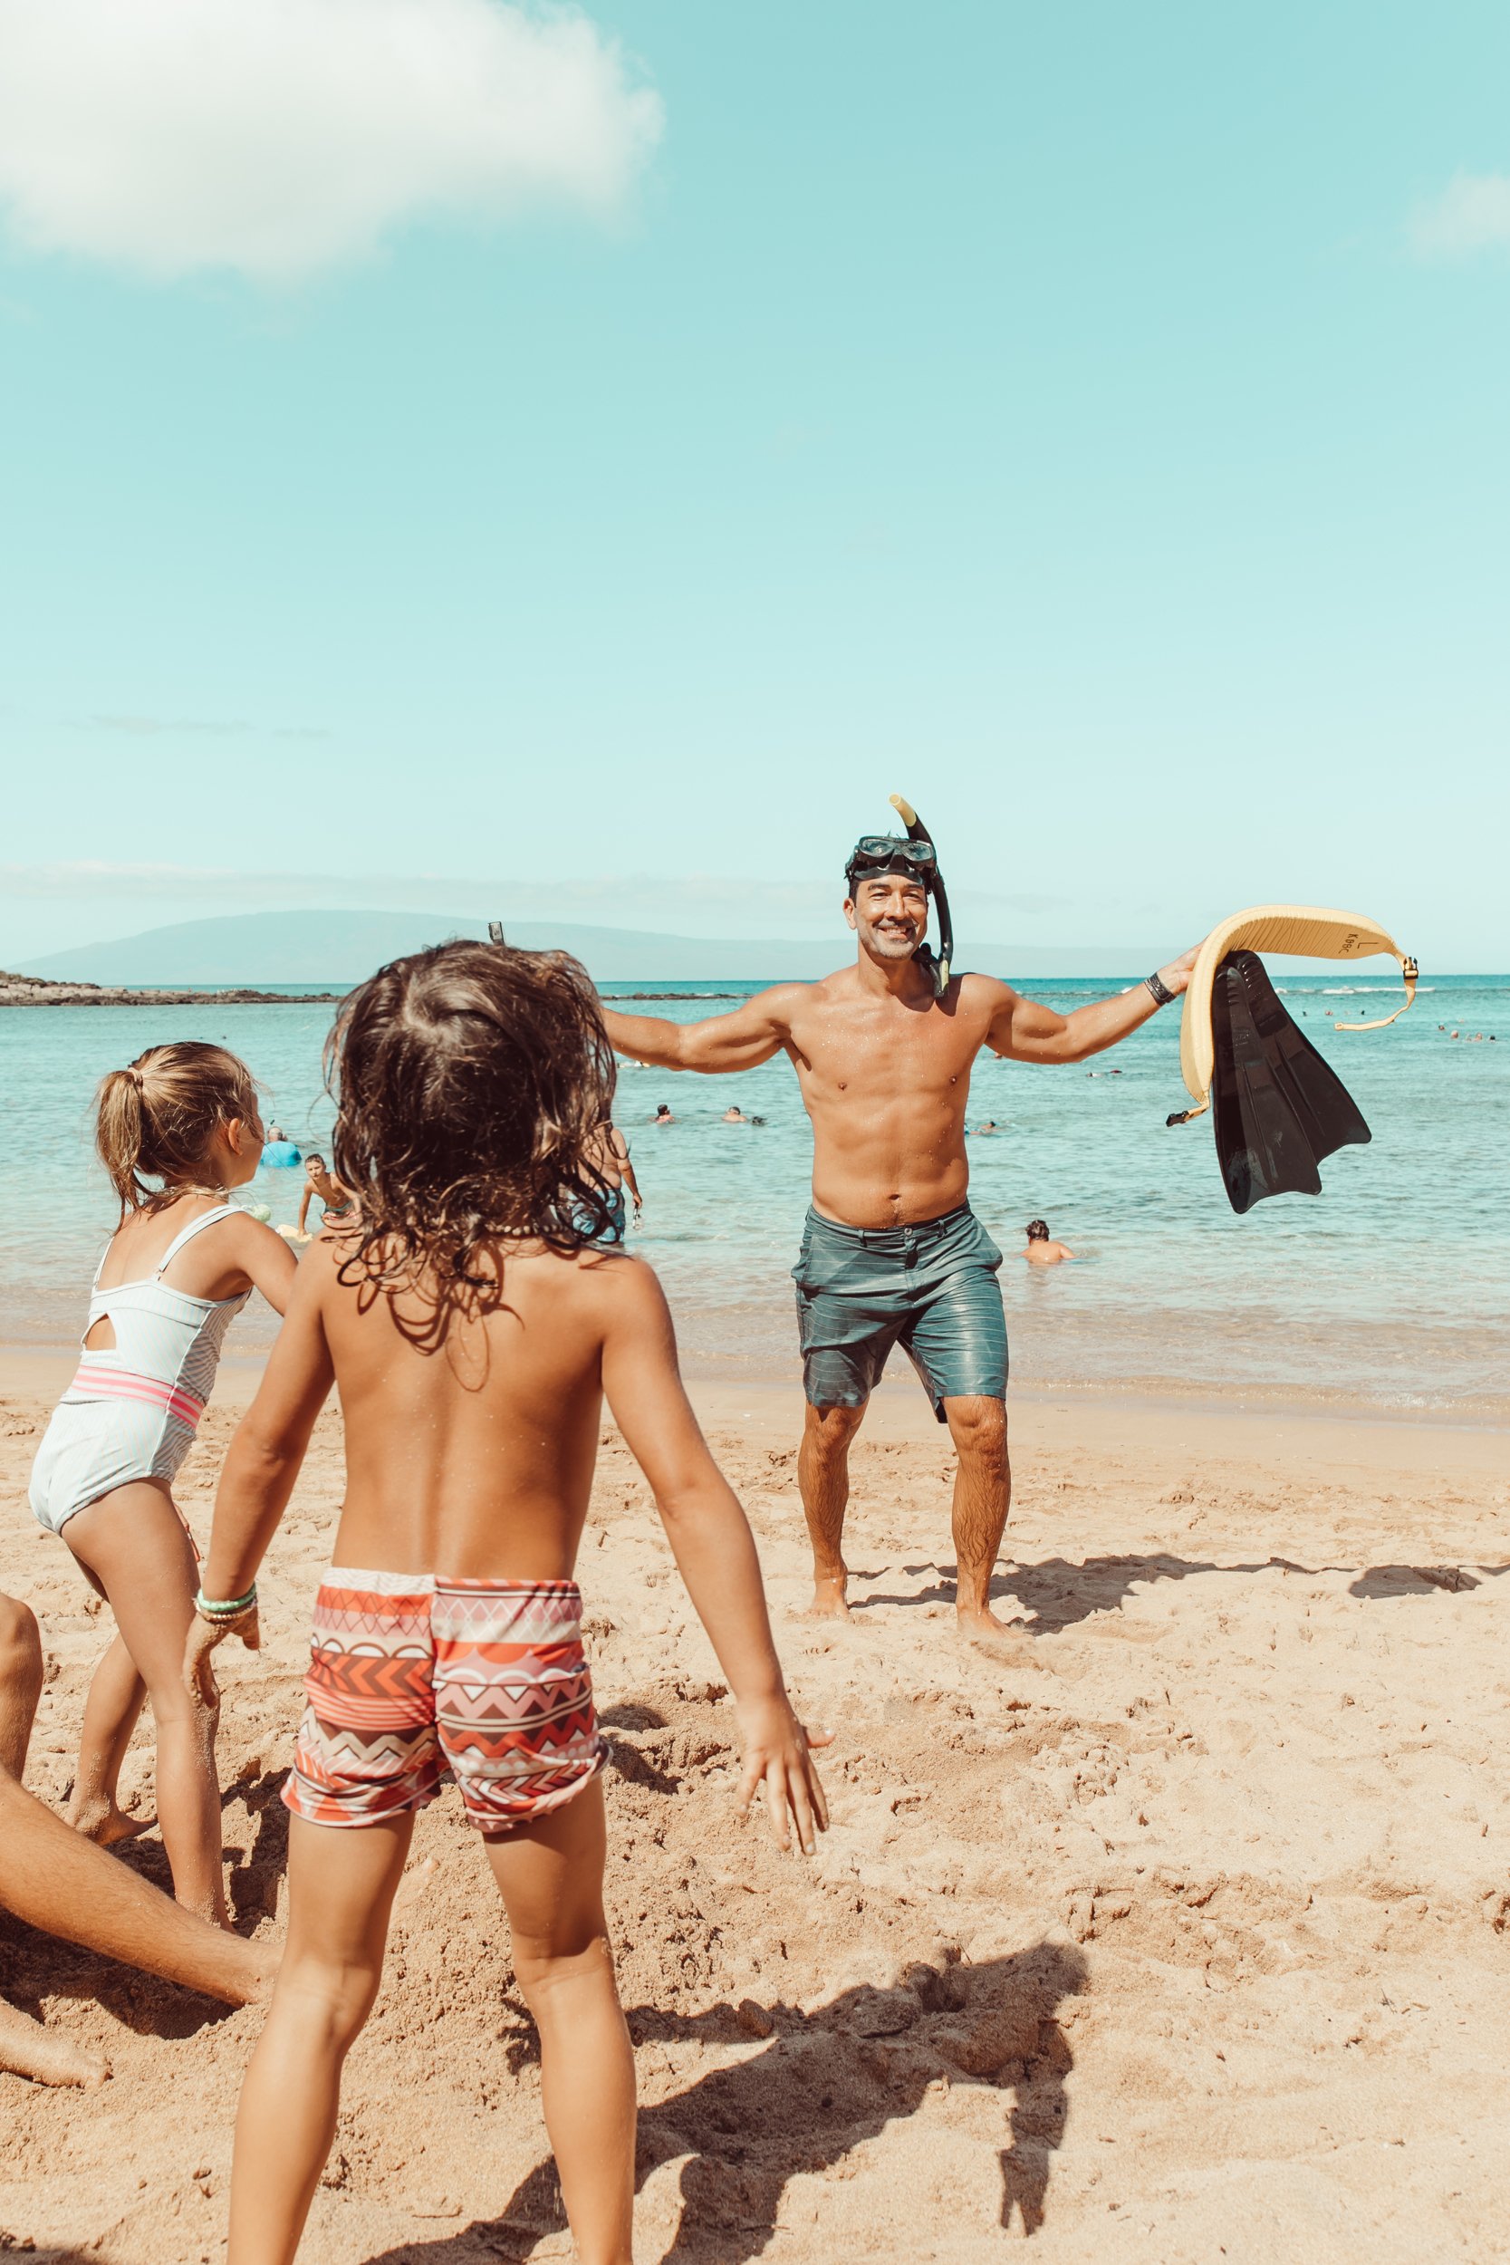
[[[183,1683],[195,1617],[195,1549],[172,1495],[143,1479],[77,1511],[63,1540],[95,1574],[147,1681],[156,1726],[156,1812],[179,1903],[229,1925],[220,1864],[215,1717]]]

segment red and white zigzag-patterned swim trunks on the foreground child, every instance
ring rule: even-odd
[[[333,1565],[283,1801],[317,1826],[423,1810],[446,1776],[503,1839],[607,1760],[575,1581],[448,1581]]]

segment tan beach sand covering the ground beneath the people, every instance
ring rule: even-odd
[[[61,1801],[106,1624],[29,1524],[52,1382],[0,1395],[0,1586],[54,1681]],[[226,1373],[231,1398],[244,1375]],[[826,1762],[813,1866],[729,1814],[731,1710],[607,1434],[582,1554],[614,1740],[609,1909],[638,2048],[641,2260],[1510,2258],[1510,1456],[1492,1431],[1016,1404],[994,1665],[951,1626],[949,1454],[908,1388],[856,1452],[847,1629],[806,1601],[795,1393],[702,1395]],[[186,1470],[204,1533],[233,1409]],[[222,1653],[235,1912],[276,1930],[276,1792],[340,1497],[321,1420]],[[149,1792],[138,1740],[129,1787]],[[165,1878],[156,1837],[134,1851]],[[0,2075],[0,2251],[224,2254],[260,2016],[0,1918],[0,1989],[113,2082]],[[530,2023],[455,1794],[423,1819],[301,2258],[564,2258]]]

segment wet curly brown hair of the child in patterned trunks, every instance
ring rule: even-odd
[[[335,1178],[358,1203],[342,1280],[491,1305],[482,1243],[582,1250],[609,1232],[614,1049],[568,954],[453,942],[378,967],[335,1017],[326,1085]]]

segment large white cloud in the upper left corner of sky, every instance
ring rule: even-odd
[[[616,211],[661,102],[575,9],[0,0],[0,204],[38,251],[265,281],[426,213]]]

